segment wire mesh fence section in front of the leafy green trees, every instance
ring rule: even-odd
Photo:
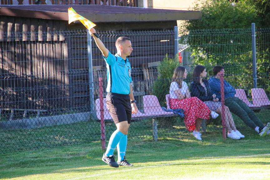
[[[227,75],[237,77],[232,80],[237,88],[253,86],[252,74],[255,73],[257,87],[264,88],[270,95],[269,28],[256,29],[257,64],[252,63],[252,28],[180,31],[180,35],[182,51],[185,52],[182,53],[184,65],[186,62],[202,64],[209,75],[212,75],[214,65],[222,65]],[[253,72],[253,65],[257,73]]]

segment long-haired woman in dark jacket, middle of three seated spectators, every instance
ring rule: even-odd
[[[206,79],[206,69],[202,65],[196,65],[193,71],[193,82],[190,85],[192,97],[197,97],[203,101],[211,111],[221,114],[221,102],[218,101],[216,95],[211,93],[210,85]],[[227,136],[232,139],[240,139],[245,137],[237,131],[232,114],[227,106],[225,106],[225,126],[227,128]]]

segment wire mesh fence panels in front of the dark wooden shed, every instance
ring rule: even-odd
[[[99,36],[112,54],[118,37],[131,39],[134,52],[129,60],[135,81],[156,79],[158,62],[166,54],[174,57],[174,31],[99,32]],[[2,33],[0,52],[2,121],[88,111],[91,100],[98,98],[89,82],[107,78],[103,56],[86,30]],[[135,95],[144,91],[135,87]]]

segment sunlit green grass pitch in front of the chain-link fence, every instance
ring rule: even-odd
[[[0,154],[0,179],[269,179],[270,136],[241,132],[241,140],[223,140],[218,132],[202,133],[203,141],[191,134],[132,139],[126,158],[133,167],[106,165],[100,141]]]

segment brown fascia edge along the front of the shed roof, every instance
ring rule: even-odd
[[[0,8],[0,15],[25,18],[41,18],[68,21],[68,13],[36,11],[25,9]],[[171,13],[80,13],[94,23],[108,22],[148,22],[201,19],[200,11],[171,12]]]

